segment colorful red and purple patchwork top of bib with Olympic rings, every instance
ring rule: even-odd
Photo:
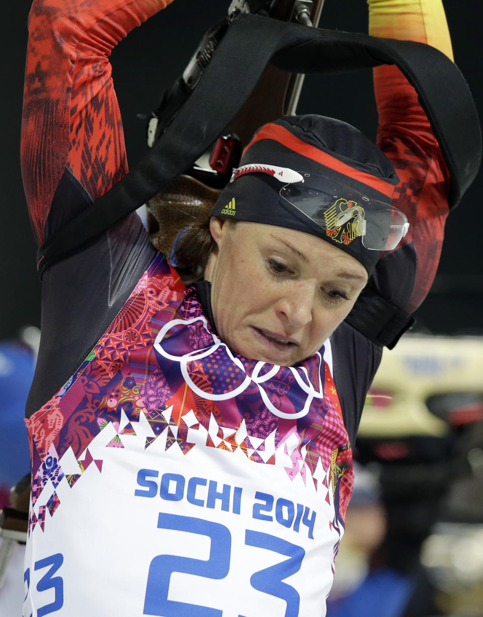
[[[326,500],[331,486],[336,526],[352,492],[352,454],[322,355],[284,367],[232,354],[194,290],[160,255],[76,375],[27,426],[30,529],[43,528],[46,511],[53,516],[62,507],[60,482],[75,490],[89,466],[102,473],[89,444],[104,431],[109,448],[130,449],[142,439],[145,450],[157,442],[183,455],[212,447],[262,465],[283,460],[291,480],[324,486]],[[75,460],[75,469],[70,464],[65,473],[64,460]]]

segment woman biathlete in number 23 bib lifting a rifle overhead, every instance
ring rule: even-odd
[[[22,168],[39,243],[125,175],[108,58],[166,4],[33,3]],[[450,55],[444,25],[440,0],[369,0],[374,35]],[[381,358],[344,319],[369,277],[418,307],[448,212],[414,89],[393,66],[374,80],[379,147],[315,115],[255,133],[178,246],[182,261],[204,234],[196,286],[136,214],[46,271],[25,617],[325,614]]]

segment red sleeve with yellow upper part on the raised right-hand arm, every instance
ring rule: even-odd
[[[369,0],[368,4],[371,35],[427,43],[452,59],[441,0]],[[394,66],[374,69],[374,90],[378,146],[400,178],[394,205],[410,221],[402,246],[379,261],[376,280],[379,277],[379,285],[384,285],[386,297],[389,290],[389,300],[413,312],[436,275],[448,214],[449,176],[415,89],[402,73]]]

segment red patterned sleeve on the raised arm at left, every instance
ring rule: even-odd
[[[23,99],[22,177],[36,240],[65,169],[91,199],[127,172],[109,55],[171,0],[35,0]],[[65,213],[65,222],[69,213]]]

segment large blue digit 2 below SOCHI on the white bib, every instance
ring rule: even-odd
[[[231,553],[231,534],[225,525],[205,521],[192,516],[159,513],[158,527],[186,531],[191,534],[208,536],[211,540],[208,560],[157,555],[149,565],[143,615],[163,617],[221,617],[223,611],[217,608],[200,607],[186,602],[168,600],[168,589],[173,572],[196,574],[210,579],[223,579],[228,574]]]

